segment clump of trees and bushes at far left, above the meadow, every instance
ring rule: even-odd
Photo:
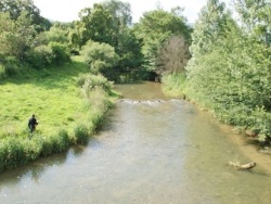
[[[0,2],[0,78],[62,63],[68,49],[66,30],[40,16],[33,1]]]

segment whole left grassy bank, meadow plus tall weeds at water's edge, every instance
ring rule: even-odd
[[[0,171],[87,143],[116,97],[111,89],[104,77],[89,75],[78,58],[1,80]],[[39,125],[30,140],[33,113]]]

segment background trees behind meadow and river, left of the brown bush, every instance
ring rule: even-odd
[[[185,46],[191,42],[181,8],[170,12],[157,8],[132,24],[130,4],[108,0],[85,8],[78,16],[72,23],[51,22],[40,16],[31,0],[1,1],[0,77],[25,66],[57,66],[81,54],[92,73],[109,80],[152,79],[159,73],[156,69],[166,67],[159,59],[169,39],[180,38],[178,43]]]

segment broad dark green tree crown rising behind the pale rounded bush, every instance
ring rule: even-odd
[[[129,3],[111,0],[94,3],[93,8],[85,8],[80,11],[80,21],[76,23],[77,31],[73,33],[74,41],[78,41],[76,35],[80,36],[80,46],[88,40],[105,42],[113,47],[118,46],[120,33],[131,25],[131,9]]]

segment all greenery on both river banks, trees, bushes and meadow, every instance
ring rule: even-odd
[[[31,0],[1,0],[0,170],[86,143],[116,97],[109,81],[163,81],[268,148],[271,5],[233,5],[238,21],[225,3],[207,0],[192,27],[179,7],[132,24],[129,3],[105,0],[61,23]],[[27,140],[33,113],[39,125]]]

